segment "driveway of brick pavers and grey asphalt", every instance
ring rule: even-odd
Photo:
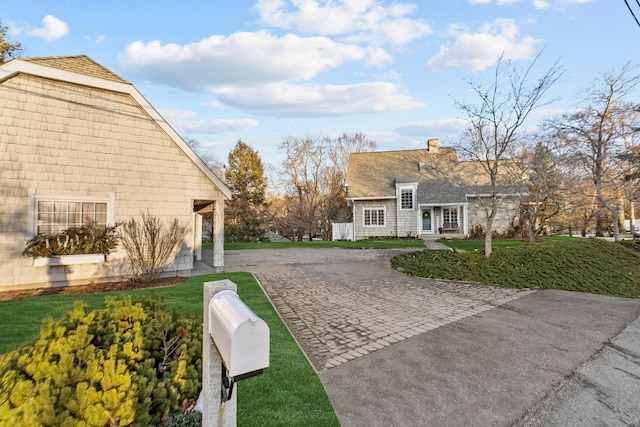
[[[343,426],[640,423],[640,301],[408,277],[400,252],[227,251],[225,271],[256,275]]]

